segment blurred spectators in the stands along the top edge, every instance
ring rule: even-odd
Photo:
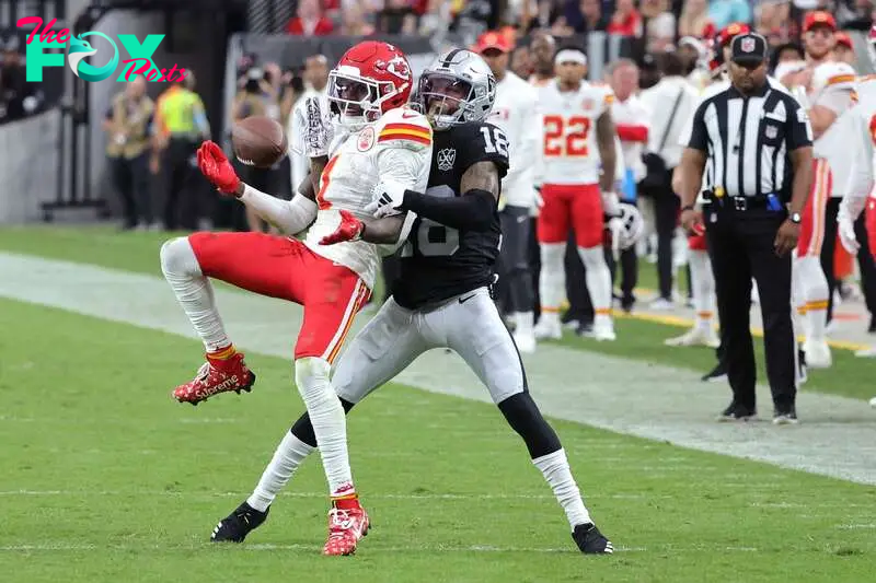
[[[641,38],[660,50],[677,38],[711,38],[731,22],[752,26],[773,46],[799,37],[803,15],[828,10],[841,28],[868,31],[872,0],[298,0],[286,30],[293,35],[431,35],[503,28],[554,36],[603,31]],[[481,32],[481,31],[476,31]]]

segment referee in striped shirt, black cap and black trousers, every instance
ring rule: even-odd
[[[722,343],[733,401],[721,420],[757,412],[749,325],[751,278],[760,292],[773,422],[796,423],[797,345],[791,259],[811,180],[812,130],[806,112],[766,79],[768,45],[758,34],[733,39],[730,86],[694,113],[681,161],[681,223],[706,232]],[[705,180],[703,182],[703,173]],[[703,184],[703,212],[694,210]]]

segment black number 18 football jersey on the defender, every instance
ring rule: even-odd
[[[428,196],[463,196],[462,175],[477,162],[494,162],[499,179],[508,172],[508,139],[492,124],[454,126],[434,132],[433,140]],[[500,238],[498,210],[487,231],[459,231],[417,217],[401,250],[393,298],[413,310],[488,285]]]

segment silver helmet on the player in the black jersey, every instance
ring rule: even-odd
[[[496,101],[496,78],[480,55],[453,48],[426,67],[414,100],[438,130],[482,121]]]

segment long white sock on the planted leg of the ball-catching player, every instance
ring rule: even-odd
[[[328,381],[330,371],[331,364],[325,359],[298,359],[295,361],[295,383],[313,423],[330,493],[334,495],[342,490],[354,493],[347,451],[347,419]]]

